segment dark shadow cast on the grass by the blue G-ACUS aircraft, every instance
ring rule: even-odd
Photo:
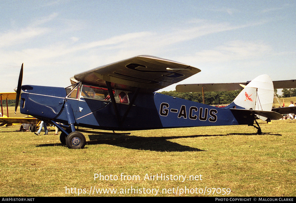
[[[280,134],[270,134],[277,135]],[[170,136],[170,137],[139,137],[131,135],[89,135],[87,145],[107,144],[118,147],[124,147],[137,150],[161,151],[161,152],[184,152],[184,151],[206,151],[198,148],[184,146],[178,143],[171,142],[172,139],[179,138],[194,138],[194,137],[212,137],[212,136],[227,136],[227,135],[257,135],[256,133],[231,133],[226,135],[188,135],[188,136]],[[41,144],[36,147],[59,146],[56,144]],[[87,147],[86,145],[86,147]]]

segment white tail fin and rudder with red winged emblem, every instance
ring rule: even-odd
[[[274,100],[274,85],[268,75],[261,75],[252,80],[239,93],[231,104],[244,109],[271,111]],[[259,117],[266,120],[264,117]]]

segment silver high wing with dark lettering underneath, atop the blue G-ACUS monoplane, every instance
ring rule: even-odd
[[[142,92],[154,92],[198,72],[200,69],[183,63],[139,55],[76,74],[74,78],[91,85],[106,86],[108,81],[114,89],[141,88]]]

